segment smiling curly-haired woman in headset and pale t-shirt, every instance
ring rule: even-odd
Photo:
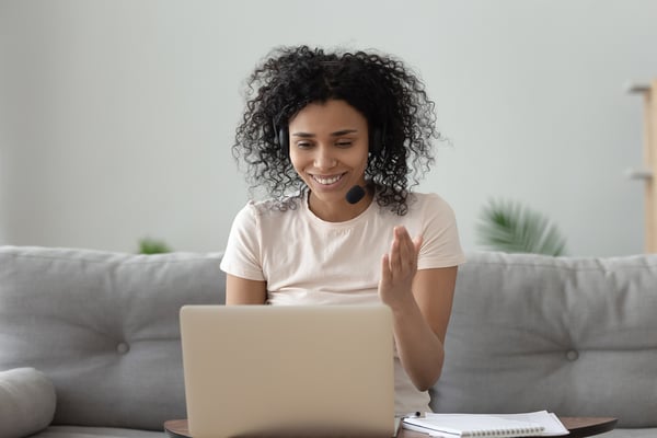
[[[429,410],[464,261],[450,207],[411,192],[438,137],[433,102],[399,60],[301,46],[252,73],[233,146],[268,199],[233,222],[227,304],[389,306],[399,414]]]

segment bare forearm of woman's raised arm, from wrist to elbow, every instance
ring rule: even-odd
[[[428,390],[440,377],[445,349],[412,293],[392,309],[394,339],[402,366],[420,390]]]

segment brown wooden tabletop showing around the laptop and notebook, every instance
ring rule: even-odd
[[[568,438],[590,437],[613,430],[616,418],[608,417],[560,417],[563,425],[570,431]],[[192,438],[186,419],[170,419],[164,423],[164,431],[170,438]],[[397,438],[427,438],[427,434],[400,429]]]

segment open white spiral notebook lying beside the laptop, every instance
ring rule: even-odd
[[[403,427],[434,437],[546,437],[568,435],[548,411],[522,414],[433,414],[406,417]]]

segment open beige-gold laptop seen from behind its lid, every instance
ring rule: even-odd
[[[185,306],[189,435],[395,435],[393,332],[380,306]]]

